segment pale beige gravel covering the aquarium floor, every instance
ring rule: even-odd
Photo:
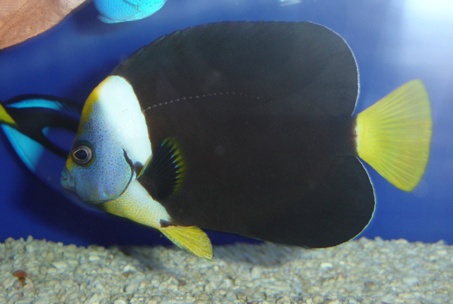
[[[21,271],[18,271],[21,270]],[[361,238],[306,250],[0,243],[0,303],[453,303],[453,247]]]

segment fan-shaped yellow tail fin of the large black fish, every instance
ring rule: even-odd
[[[430,155],[432,133],[428,93],[409,81],[357,115],[357,153],[395,187],[411,191]]]

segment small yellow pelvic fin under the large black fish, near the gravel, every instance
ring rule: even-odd
[[[197,257],[212,259],[210,238],[197,226],[168,226],[159,228],[159,230],[176,245],[185,248]]]

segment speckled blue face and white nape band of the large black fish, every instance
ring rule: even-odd
[[[135,177],[134,164],[149,156],[147,124],[134,90],[124,78],[109,76],[86,100],[62,186],[91,204],[117,199]]]

